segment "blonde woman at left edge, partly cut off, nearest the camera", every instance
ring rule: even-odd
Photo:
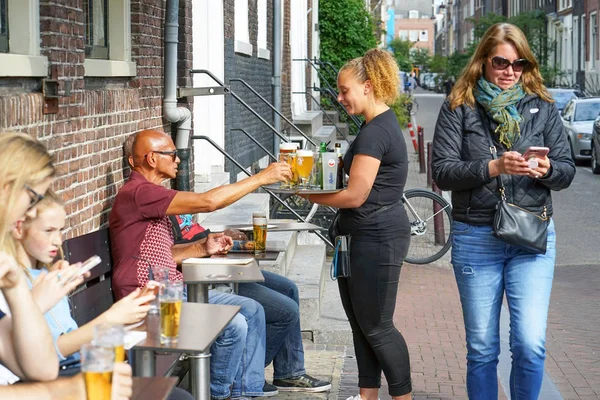
[[[25,134],[0,133],[0,290],[11,314],[0,312],[0,364],[29,381],[55,379],[58,358],[46,321],[15,261],[11,231],[25,215],[35,217],[36,205],[44,198],[54,174],[52,158],[42,144]],[[67,277],[58,273],[53,276],[64,281]],[[81,375],[44,383],[0,385],[2,399],[19,400],[24,396],[83,400],[85,385]],[[129,397],[131,368],[115,364],[112,400]]]

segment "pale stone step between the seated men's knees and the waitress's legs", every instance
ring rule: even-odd
[[[288,278],[300,291],[300,325],[303,331],[319,327],[321,299],[328,269],[324,268],[325,245],[298,245],[290,265]]]

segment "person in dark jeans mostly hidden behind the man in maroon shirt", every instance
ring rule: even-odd
[[[175,244],[194,245],[207,240],[202,226],[192,222],[190,214],[169,217],[173,224]],[[239,231],[225,231],[246,239]],[[265,366],[273,362],[273,385],[279,391],[324,392],[331,389],[329,382],[315,379],[304,369],[304,347],[300,331],[300,299],[298,287],[288,278],[262,271],[264,282],[238,284],[238,295],[258,301],[265,310],[267,323],[267,350]]]

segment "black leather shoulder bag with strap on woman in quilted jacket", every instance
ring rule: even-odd
[[[498,155],[496,153],[496,146],[492,140],[489,120],[486,115],[481,115],[481,109],[479,113],[488,131],[487,138],[490,145],[490,153],[492,153],[492,158],[497,160]],[[508,202],[506,199],[506,189],[502,183],[502,175],[498,175],[496,180],[498,182],[498,191],[500,192],[500,201],[496,205],[492,234],[503,242],[528,253],[546,253],[548,223],[550,222],[546,206],[544,206],[542,213],[538,215]]]

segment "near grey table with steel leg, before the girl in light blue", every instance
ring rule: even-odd
[[[185,353],[190,359],[192,395],[197,400],[210,400],[210,346],[239,310],[239,306],[184,302],[179,338],[169,344],[160,341],[160,315],[148,314],[140,327],[146,331],[146,339],[133,347],[136,375],[156,375],[155,351]]]

